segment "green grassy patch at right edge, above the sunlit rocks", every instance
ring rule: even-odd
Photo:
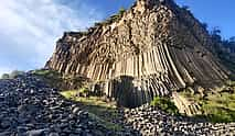
[[[229,84],[231,88],[234,82]],[[235,122],[235,93],[222,90],[217,93],[206,93],[205,97],[201,97],[185,90],[180,94],[201,105],[203,114],[200,117],[205,117],[212,123]]]

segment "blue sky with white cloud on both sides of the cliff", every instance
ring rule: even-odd
[[[135,0],[0,0],[0,75],[42,68],[64,32],[83,31]],[[235,35],[235,0],[175,0],[222,36]]]

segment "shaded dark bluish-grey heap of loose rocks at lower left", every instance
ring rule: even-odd
[[[0,136],[138,135],[106,128],[39,78],[0,80]]]

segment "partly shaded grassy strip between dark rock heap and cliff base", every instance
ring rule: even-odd
[[[106,128],[113,131],[124,129],[121,125],[114,123],[114,121],[117,121],[118,117],[120,117],[114,102],[106,102],[99,97],[77,97],[77,93],[81,90],[62,91],[61,94],[68,100],[79,102],[82,104],[81,107],[87,111],[92,118],[105,125]]]

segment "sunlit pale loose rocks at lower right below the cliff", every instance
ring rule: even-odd
[[[196,118],[173,116],[151,105],[126,111],[127,122],[147,136],[234,136],[235,123],[206,123]]]

